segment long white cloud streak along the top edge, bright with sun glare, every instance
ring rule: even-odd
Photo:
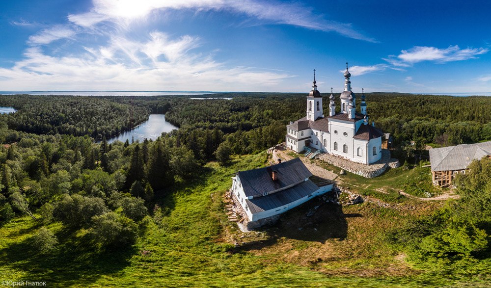
[[[77,25],[90,27],[100,22],[130,22],[143,19],[157,10],[230,11],[246,14],[258,20],[276,24],[300,26],[314,30],[334,31],[343,36],[377,42],[356,31],[351,24],[326,21],[313,13],[312,8],[298,3],[256,0],[93,0],[90,12],[71,14],[68,19]]]

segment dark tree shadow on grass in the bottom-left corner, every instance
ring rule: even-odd
[[[87,236],[62,230],[57,233],[60,243],[55,251],[39,254],[32,237],[0,250],[0,257],[9,265],[25,271],[21,280],[46,281],[48,286],[90,286],[102,275],[117,273],[130,265],[136,248],[127,247],[97,251]],[[71,234],[65,238],[67,234]],[[12,279],[17,281],[16,279]]]

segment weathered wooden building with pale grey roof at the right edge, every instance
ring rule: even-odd
[[[448,187],[456,175],[465,174],[472,160],[491,157],[491,141],[430,149],[433,184]]]

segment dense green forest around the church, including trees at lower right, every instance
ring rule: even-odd
[[[18,110],[0,116],[0,229],[28,215],[44,227],[29,240],[40,255],[81,235],[91,251],[127,249],[146,229],[147,215],[162,221],[173,209],[170,200],[167,207],[157,203],[172,199],[176,187],[191,194],[188,182],[204,171],[213,175],[207,163],[218,160],[227,167],[234,155],[260,153],[283,142],[285,126],[304,115],[304,96],[0,96],[0,105]],[[445,146],[491,140],[491,97],[366,96],[371,120],[392,133],[396,148],[408,141]],[[324,98],[325,108],[327,103]],[[179,130],[156,141],[108,144],[106,138],[150,113],[165,113]],[[457,180],[461,200],[409,217],[402,229],[389,233],[390,241],[421,267],[489,258],[490,167],[489,160],[474,162],[471,172]],[[56,223],[64,233],[45,228]]]

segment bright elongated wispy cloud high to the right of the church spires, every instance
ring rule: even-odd
[[[389,55],[383,60],[397,67],[410,67],[414,63],[422,61],[433,61],[436,63],[446,63],[451,61],[461,61],[477,58],[478,55],[489,52],[486,48],[466,48],[460,49],[459,46],[449,46],[445,49],[427,46],[414,46],[409,50],[402,50],[398,56]]]

